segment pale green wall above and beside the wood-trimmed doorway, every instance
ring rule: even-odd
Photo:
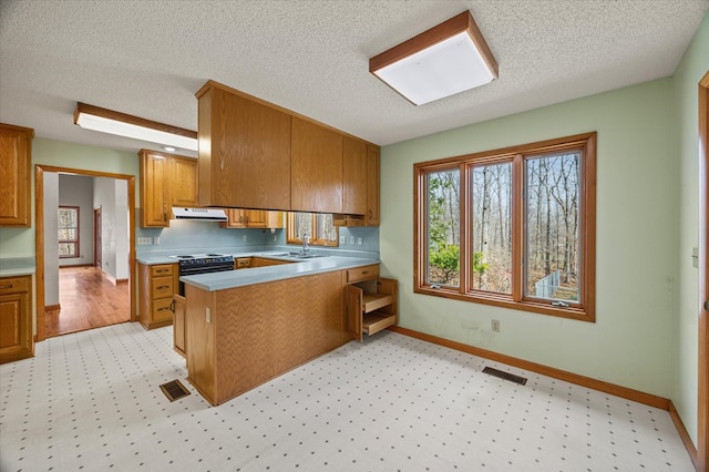
[[[137,154],[35,137],[32,141],[32,227],[0,228],[0,258],[34,256],[34,164],[135,175],[135,204],[140,201]]]

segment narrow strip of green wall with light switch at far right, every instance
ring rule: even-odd
[[[672,76],[677,132],[678,202],[677,270],[678,312],[675,377],[671,399],[687,431],[697,444],[697,368],[699,271],[692,267],[691,249],[699,246],[699,109],[697,84],[709,72],[709,14]]]

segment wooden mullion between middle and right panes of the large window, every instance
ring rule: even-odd
[[[524,156],[515,154],[512,162],[512,298],[521,301],[524,294]]]

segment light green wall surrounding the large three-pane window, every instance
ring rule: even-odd
[[[675,348],[678,182],[670,79],[382,150],[382,271],[400,325],[669,397]],[[598,132],[595,324],[413,294],[413,164]],[[491,319],[501,332],[491,332]]]

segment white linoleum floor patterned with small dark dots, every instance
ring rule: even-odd
[[[666,411],[391,331],[216,408],[186,374],[171,328],[38,343],[0,366],[0,470],[693,470]]]

